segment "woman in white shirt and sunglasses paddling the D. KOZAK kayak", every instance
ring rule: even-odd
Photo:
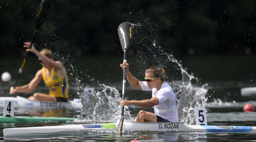
[[[141,110],[134,121],[137,122],[178,122],[179,104],[171,86],[164,82],[164,70],[158,67],[151,67],[145,72],[145,81],[139,81],[129,71],[127,61],[120,64],[123,69],[126,66],[128,82],[135,89],[152,91],[152,98],[145,100],[122,100],[121,106],[135,105],[141,108],[154,107],[154,114]]]

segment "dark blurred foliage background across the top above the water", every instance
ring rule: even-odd
[[[0,56],[24,56],[22,44],[31,40],[40,2],[0,1]],[[35,44],[60,54],[122,54],[117,34],[122,22],[139,25],[134,30],[154,31],[152,36],[162,48],[177,56],[256,52],[254,0],[51,0],[51,4]],[[151,37],[134,36],[152,42]]]

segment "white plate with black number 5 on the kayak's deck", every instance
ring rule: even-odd
[[[195,120],[196,125],[207,125],[205,108],[195,108]]]

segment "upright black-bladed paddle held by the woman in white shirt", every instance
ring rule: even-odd
[[[126,61],[126,50],[131,46],[132,42],[132,26],[128,22],[121,23],[118,26],[118,35],[122,49],[124,51],[124,61]],[[125,83],[126,83],[126,67],[124,66],[123,74],[123,84],[122,84],[122,100],[125,99]],[[122,132],[122,126],[124,123],[124,109],[125,106],[122,106],[121,119],[117,128],[118,132]]]

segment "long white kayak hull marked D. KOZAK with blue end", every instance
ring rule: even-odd
[[[116,123],[98,123],[81,125],[62,125],[62,126],[44,126],[44,127],[24,127],[3,129],[4,138],[25,138],[31,136],[54,135],[54,134],[75,134],[89,130],[98,131],[117,131]],[[191,132],[238,132],[238,133],[256,133],[256,127],[249,126],[200,126],[185,125],[184,123],[142,123],[124,120],[122,131],[191,131]]]

